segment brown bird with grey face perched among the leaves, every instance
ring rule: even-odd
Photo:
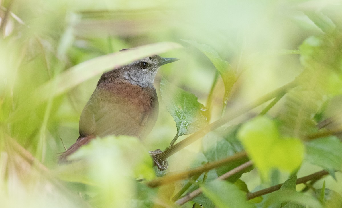
[[[127,49],[120,51],[123,50]],[[162,65],[177,60],[153,55],[103,73],[81,112],[79,137],[60,155],[59,163],[68,162],[69,155],[96,137],[146,138],[158,117],[158,97],[153,84],[156,73]],[[156,159],[160,149],[149,152],[157,167],[165,170],[167,162]]]

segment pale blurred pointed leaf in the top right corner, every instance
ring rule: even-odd
[[[325,33],[331,34],[336,29],[336,26],[331,19],[321,12],[304,11],[304,14]]]

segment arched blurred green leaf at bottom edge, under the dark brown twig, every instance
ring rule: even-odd
[[[271,207],[272,204],[281,202],[292,202],[295,204],[303,205],[304,207],[311,208],[323,208],[320,202],[312,196],[305,195],[304,193],[299,193],[294,190],[284,189],[273,192],[269,194],[267,200],[264,203],[264,208]],[[297,205],[285,205],[288,207],[298,207]],[[300,207],[301,208],[301,207]]]

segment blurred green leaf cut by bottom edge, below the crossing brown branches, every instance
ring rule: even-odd
[[[254,204],[247,202],[243,191],[227,181],[211,181],[202,186],[202,191],[219,208],[256,208]]]

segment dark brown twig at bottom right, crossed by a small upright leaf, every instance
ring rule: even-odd
[[[319,179],[319,178],[321,178],[322,176],[325,176],[325,175],[328,175],[328,174],[329,174],[328,171],[326,171],[326,170],[321,170],[321,171],[319,171],[319,172],[315,172],[314,174],[311,174],[311,175],[308,175],[308,176],[304,176],[304,177],[302,177],[302,178],[297,179],[297,183],[296,183],[296,184],[305,183],[305,182],[311,181],[311,180],[313,180],[313,179]],[[248,194],[246,195],[247,200],[250,200],[250,199],[253,199],[253,198],[256,198],[256,197],[265,195],[265,194],[269,194],[269,193],[278,191],[278,190],[280,189],[280,187],[282,186],[282,184],[283,184],[283,183],[280,183],[280,184],[277,184],[277,185],[268,187],[268,188],[266,188],[266,189],[262,189],[262,190],[260,190],[260,191],[256,191],[256,192],[253,192],[253,193],[248,193]]]

